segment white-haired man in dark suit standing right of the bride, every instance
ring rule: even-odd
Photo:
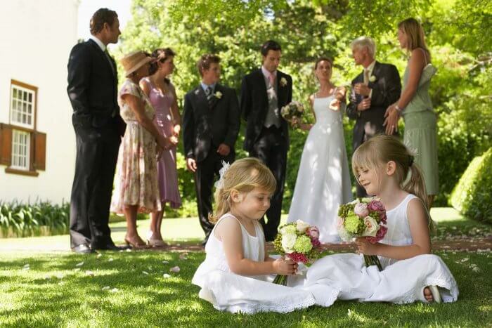
[[[384,112],[400,98],[401,81],[394,65],[374,59],[376,46],[373,39],[359,37],[352,41],[351,48],[356,65],[364,67],[363,72],[352,80],[347,106],[347,116],[356,120],[352,140],[355,151],[365,140],[384,133]],[[357,184],[356,187],[357,197],[367,196],[361,185]]]

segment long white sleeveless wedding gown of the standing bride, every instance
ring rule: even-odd
[[[314,98],[316,124],[309,131],[287,222],[316,225],[323,243],[340,242],[336,228],[338,207],[352,201],[342,115],[345,106],[330,110],[334,96]]]

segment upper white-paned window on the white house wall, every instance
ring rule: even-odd
[[[34,108],[37,88],[12,81],[11,84],[11,122],[12,124],[34,129]]]

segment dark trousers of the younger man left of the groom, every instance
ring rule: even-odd
[[[235,159],[235,152],[231,150],[227,156],[222,156],[217,152],[217,148],[212,146],[209,154],[201,162],[197,163],[195,171],[195,190],[197,195],[198,218],[205,241],[208,240],[214,225],[209,222],[209,214],[212,213],[212,191],[214,188],[214,178],[219,176],[222,168],[222,161],[232,164]]]

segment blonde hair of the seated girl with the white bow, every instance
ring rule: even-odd
[[[254,188],[273,193],[277,188],[273,173],[257,158],[238,159],[229,166],[222,177],[221,186],[215,190],[216,210],[214,214],[209,214],[209,221],[216,223],[221,216],[231,211],[232,190],[250,192]]]

